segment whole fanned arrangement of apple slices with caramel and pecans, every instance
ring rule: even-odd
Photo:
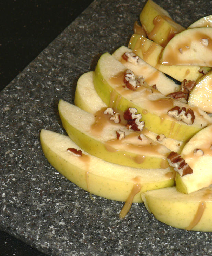
[[[121,219],[144,202],[168,225],[212,231],[211,21],[185,29],[148,0],[129,46],[79,78],[75,105],[59,102],[68,136],[41,130],[51,165],[125,202]]]

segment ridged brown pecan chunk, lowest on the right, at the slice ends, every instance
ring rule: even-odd
[[[172,166],[174,168],[174,170],[180,174],[180,176],[184,176],[186,174],[193,173],[193,170],[185,162],[185,160],[183,158],[181,158],[181,156],[174,151],[172,151],[167,156],[167,161],[168,161],[169,165]]]

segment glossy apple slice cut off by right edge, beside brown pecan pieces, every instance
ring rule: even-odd
[[[201,77],[190,92],[188,104],[212,113],[212,71]]]

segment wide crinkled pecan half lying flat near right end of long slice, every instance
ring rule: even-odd
[[[175,106],[167,112],[167,115],[174,117],[177,121],[182,121],[188,125],[193,124],[195,119],[194,111],[191,108],[186,110],[185,107],[180,108]]]

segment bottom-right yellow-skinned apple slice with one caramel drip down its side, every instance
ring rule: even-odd
[[[156,219],[175,228],[212,232],[212,186],[189,195],[172,188],[142,193],[142,200]]]

